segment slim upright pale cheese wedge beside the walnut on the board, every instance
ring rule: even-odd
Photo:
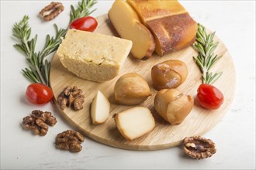
[[[91,105],[92,124],[104,123],[109,118],[109,112],[109,100],[98,90]]]

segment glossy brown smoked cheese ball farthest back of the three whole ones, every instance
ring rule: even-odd
[[[177,59],[157,63],[151,69],[151,79],[156,90],[178,87],[187,76],[187,66]]]

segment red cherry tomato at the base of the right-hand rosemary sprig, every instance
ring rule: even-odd
[[[223,104],[223,93],[212,85],[202,83],[198,90],[196,99],[206,109],[217,109]]]

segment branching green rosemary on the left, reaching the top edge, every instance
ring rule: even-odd
[[[92,8],[95,3],[96,0],[82,0],[78,2],[76,9],[71,5],[70,22],[68,23],[67,29],[74,19],[90,15],[94,12],[95,9],[90,11],[90,8]],[[43,83],[50,86],[50,61],[48,61],[46,57],[57,50],[61,43],[61,37],[64,37],[67,32],[67,29],[58,29],[56,24],[54,24],[54,29],[56,35],[51,37],[47,35],[43,49],[36,53],[37,35],[30,39],[31,28],[29,27],[29,16],[25,15],[19,23],[16,22],[13,26],[12,36],[19,39],[19,43],[15,44],[14,47],[26,56],[29,65],[22,70],[22,73],[32,83]]]

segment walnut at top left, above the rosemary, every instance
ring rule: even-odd
[[[57,17],[64,10],[64,6],[61,2],[51,2],[50,5],[44,7],[39,15],[45,20],[50,21]]]

